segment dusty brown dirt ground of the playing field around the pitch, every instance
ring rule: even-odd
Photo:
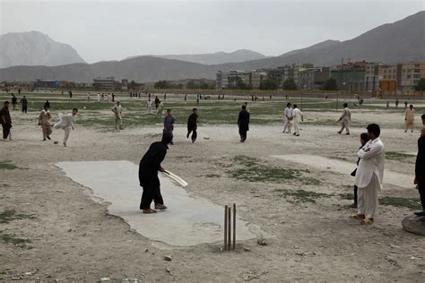
[[[202,114],[201,114],[202,115]],[[230,171],[235,156],[256,158],[267,166],[307,167],[273,159],[272,155],[311,154],[351,160],[355,167],[359,135],[336,133],[338,124],[301,124],[299,137],[282,133],[281,124],[251,124],[247,142],[240,143],[233,125],[198,129],[198,141],[186,140],[184,124],[175,129],[163,167],[189,184],[186,190],[224,206],[236,202],[239,217],[264,231],[266,245],[256,239],[239,242],[236,252],[221,252],[221,243],[160,250],[135,233],[122,219],[108,214],[108,205],[93,202],[87,188],[65,177],[55,166],[70,160],[130,160],[138,163],[151,142],[160,138],[160,126],[121,132],[78,126],[68,147],[41,142],[41,130],[29,116],[13,113],[13,141],[0,142],[1,159],[13,170],[0,170],[0,210],[32,215],[1,223],[3,235],[30,240],[27,244],[0,244],[0,279],[12,280],[122,280],[142,281],[409,281],[425,280],[425,237],[403,231],[401,221],[412,210],[380,206],[372,226],[360,226],[349,216],[353,179],[308,168],[319,184],[295,178],[277,182],[248,182]],[[336,113],[305,112],[307,120],[337,118]],[[403,120],[393,114],[353,112],[356,123],[383,125],[386,151],[415,152],[419,133],[403,133]],[[419,120],[417,120],[419,122]],[[111,118],[111,127],[113,121]],[[56,130],[53,140],[63,138]],[[207,138],[207,139],[205,139]],[[414,158],[386,160],[386,168],[413,176]],[[88,172],[90,174],[90,172]],[[134,176],[135,178],[137,176]],[[328,193],[314,202],[284,196],[282,190]],[[141,190],[142,193],[142,190]],[[383,196],[418,198],[411,189],[386,185]],[[134,210],[139,200],[134,200]],[[167,202],[167,200],[165,200]],[[140,215],[141,219],[149,215]],[[158,224],[160,225],[160,223]],[[172,233],[172,231],[169,231]],[[164,260],[170,255],[172,261]],[[125,280],[128,281],[128,280]]]

